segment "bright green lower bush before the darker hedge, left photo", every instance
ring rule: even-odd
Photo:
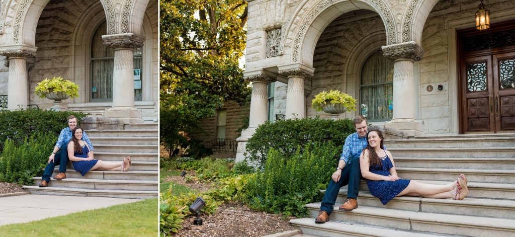
[[[50,133],[33,134],[21,144],[6,140],[0,157],[0,181],[31,185],[32,177],[41,176],[57,136]]]

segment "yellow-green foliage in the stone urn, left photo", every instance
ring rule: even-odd
[[[65,80],[62,77],[45,78],[38,83],[36,87],[36,95],[40,98],[45,98],[46,93],[63,92],[64,94],[75,98],[79,96],[79,86],[70,80]]]

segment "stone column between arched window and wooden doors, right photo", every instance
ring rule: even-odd
[[[416,119],[417,85],[413,63],[420,61],[424,50],[414,41],[383,46],[384,56],[393,60],[393,117],[387,128],[400,130],[406,137],[421,136],[423,126]]]

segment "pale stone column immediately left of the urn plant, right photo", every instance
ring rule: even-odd
[[[300,68],[280,70],[279,74],[288,77],[286,94],[286,119],[306,117],[306,96],[304,79],[311,78],[313,73]]]

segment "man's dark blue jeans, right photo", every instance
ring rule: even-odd
[[[333,179],[329,182],[329,187],[325,190],[320,210],[326,211],[328,215],[331,214],[336,198],[338,197],[338,191],[347,184],[349,184],[347,197],[356,199],[359,192],[359,180],[361,180],[361,178],[359,155],[356,155],[350,158],[350,163],[346,164],[344,169],[341,170],[341,176],[338,182],[334,182]]]

